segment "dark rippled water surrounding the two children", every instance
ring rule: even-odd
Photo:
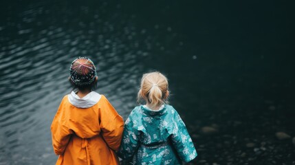
[[[50,124],[78,56],[97,64],[96,91],[125,119],[142,74],[166,74],[199,153],[191,164],[295,164],[292,6],[2,2],[0,164],[55,163]]]

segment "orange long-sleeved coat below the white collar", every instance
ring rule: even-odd
[[[51,126],[56,164],[119,164],[115,151],[123,128],[122,117],[105,96],[88,108],[75,107],[65,96]]]

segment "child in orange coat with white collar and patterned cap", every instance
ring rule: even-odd
[[[124,121],[105,96],[92,91],[98,80],[94,63],[74,60],[69,80],[76,91],[63,98],[51,126],[56,164],[119,164]]]

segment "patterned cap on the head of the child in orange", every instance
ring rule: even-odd
[[[91,85],[96,78],[96,67],[89,58],[79,57],[69,67],[69,76],[77,86]]]

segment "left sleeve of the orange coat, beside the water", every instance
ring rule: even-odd
[[[64,100],[65,98],[63,98]],[[65,109],[63,107],[63,101],[58,107],[58,111],[54,116],[52,121],[51,131],[52,131],[52,146],[54,148],[54,153],[56,155],[61,155],[65,151],[65,147],[69,142],[73,131],[67,127],[67,122],[65,120]]]

